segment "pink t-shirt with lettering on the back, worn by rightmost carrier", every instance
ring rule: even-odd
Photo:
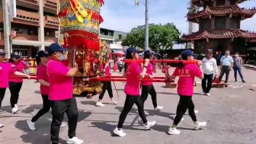
[[[177,92],[179,95],[192,96],[194,94],[194,79],[200,77],[202,72],[194,65],[189,64],[183,68],[176,68],[173,75],[178,76]]]

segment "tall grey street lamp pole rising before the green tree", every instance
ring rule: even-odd
[[[139,0],[135,0],[135,5],[138,6],[140,3]],[[146,6],[146,14],[145,14],[145,51],[149,50],[149,0],[145,0],[145,4],[142,3],[143,5]]]

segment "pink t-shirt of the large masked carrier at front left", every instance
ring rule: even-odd
[[[73,83],[72,77],[67,76],[69,68],[62,62],[49,59],[46,66],[46,72],[49,78],[50,101],[62,101],[72,98]]]

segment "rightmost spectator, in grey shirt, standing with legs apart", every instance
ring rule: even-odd
[[[242,82],[245,82],[244,77],[242,75],[242,57],[239,56],[239,53],[235,53],[235,57],[233,58],[234,60],[234,76],[235,76],[235,82],[237,82],[237,72],[240,75],[240,78],[242,79]]]

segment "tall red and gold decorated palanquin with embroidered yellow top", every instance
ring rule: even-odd
[[[63,46],[70,49],[69,63],[76,62],[79,69],[74,78],[74,95],[91,98],[102,91],[101,82],[84,80],[102,75],[100,65],[110,56],[106,44],[99,39],[103,4],[103,0],[59,0]]]

